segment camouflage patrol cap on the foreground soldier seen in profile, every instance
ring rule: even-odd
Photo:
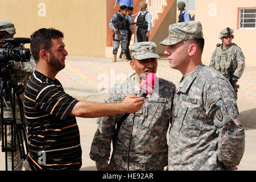
[[[169,35],[160,42],[163,46],[177,44],[182,40],[195,40],[203,38],[202,25],[199,21],[189,21],[170,24]]]

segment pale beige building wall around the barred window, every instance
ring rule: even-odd
[[[256,66],[256,30],[239,29],[239,8],[255,8],[255,0],[196,0],[195,20],[203,26],[205,47],[203,63],[209,65],[212,52],[217,43],[219,32],[230,27],[234,30],[233,43],[236,43],[245,55],[246,66]]]

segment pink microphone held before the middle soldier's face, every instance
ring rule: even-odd
[[[146,80],[143,80],[141,85],[139,85],[139,89],[141,89],[139,97],[146,97],[147,94],[152,94],[157,80],[158,77],[154,73],[149,73]]]

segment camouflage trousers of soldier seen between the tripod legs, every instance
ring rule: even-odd
[[[18,102],[15,103],[15,106],[16,106],[15,108],[16,122],[18,123],[20,122]],[[9,107],[10,107],[10,104],[9,104]],[[5,106],[3,107],[3,118],[13,118],[13,112],[11,111],[11,107],[9,110],[7,110]],[[0,140],[2,139],[1,132],[4,132],[4,129],[1,129],[1,125],[0,125]],[[13,133],[13,135],[14,135],[13,137],[16,137],[15,133]],[[2,141],[0,143],[2,145]],[[11,126],[10,125],[7,125],[7,147],[11,147]],[[7,152],[8,171],[11,171],[11,158],[12,158],[11,152]],[[16,152],[14,152],[14,171],[21,171],[22,164],[23,164],[23,159],[20,159],[18,140],[16,138]]]

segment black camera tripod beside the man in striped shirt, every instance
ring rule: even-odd
[[[24,123],[23,104],[22,104],[22,101],[20,100],[20,94],[24,92],[24,86],[22,84],[18,86],[16,81],[7,79],[7,78],[2,78],[2,80],[0,80],[0,86],[1,86],[0,99],[1,99],[2,152],[5,152],[6,171],[8,169],[7,152],[11,152],[11,169],[12,171],[14,171],[14,152],[16,152],[16,146],[17,146],[16,142],[18,142],[20,159],[26,159],[26,156],[27,156],[26,152],[28,151],[27,130]],[[12,93],[13,93],[13,97],[12,97]],[[12,118],[3,118],[4,117],[3,101],[5,101],[4,94],[7,100],[10,101],[11,111],[13,113]],[[16,113],[15,99],[16,98],[18,99],[19,114],[20,114],[20,121],[21,121],[19,123],[16,122],[16,115],[15,115]],[[5,101],[5,104],[7,106],[6,101]],[[7,145],[7,126],[9,126],[11,129],[10,146]],[[26,147],[26,151],[24,148],[24,144]]]

